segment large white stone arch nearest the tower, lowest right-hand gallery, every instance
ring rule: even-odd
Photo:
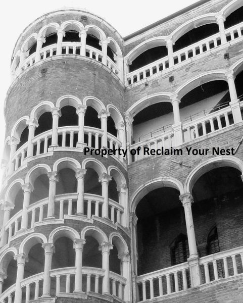
[[[163,177],[163,178],[156,178],[151,181],[148,181],[146,183],[143,183],[141,186],[139,186],[136,191],[131,196],[131,212],[134,213],[136,210],[136,207],[141,200],[142,197],[144,197],[147,193],[150,191],[160,188],[160,187],[171,187],[177,189],[180,194],[184,193],[184,188],[182,183],[175,179],[170,177]]]

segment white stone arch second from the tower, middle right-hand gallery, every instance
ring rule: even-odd
[[[226,70],[213,70],[206,73],[202,73],[192,79],[189,79],[187,82],[178,87],[175,91],[175,94],[178,94],[179,99],[182,98],[185,94],[187,94],[192,89],[205,84],[207,82],[223,80],[227,82],[225,76]]]

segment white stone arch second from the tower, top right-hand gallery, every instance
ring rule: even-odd
[[[193,18],[182,25],[178,26],[172,33],[172,42],[177,41],[181,36],[183,36],[188,31],[200,27],[202,25],[217,23],[216,14],[206,14],[200,17]]]

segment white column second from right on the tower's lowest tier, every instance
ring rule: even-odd
[[[102,294],[107,295],[110,295],[109,255],[110,249],[112,248],[113,245],[108,242],[103,242],[99,247],[99,250],[102,251],[102,268],[105,270],[105,275],[102,284]]]

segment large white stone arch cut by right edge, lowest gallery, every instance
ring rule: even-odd
[[[194,186],[196,181],[205,173],[211,171],[214,168],[225,166],[236,168],[241,172],[241,174],[243,173],[243,162],[238,158],[233,156],[214,157],[200,163],[189,173],[185,180],[185,192],[191,192],[192,187]]]

